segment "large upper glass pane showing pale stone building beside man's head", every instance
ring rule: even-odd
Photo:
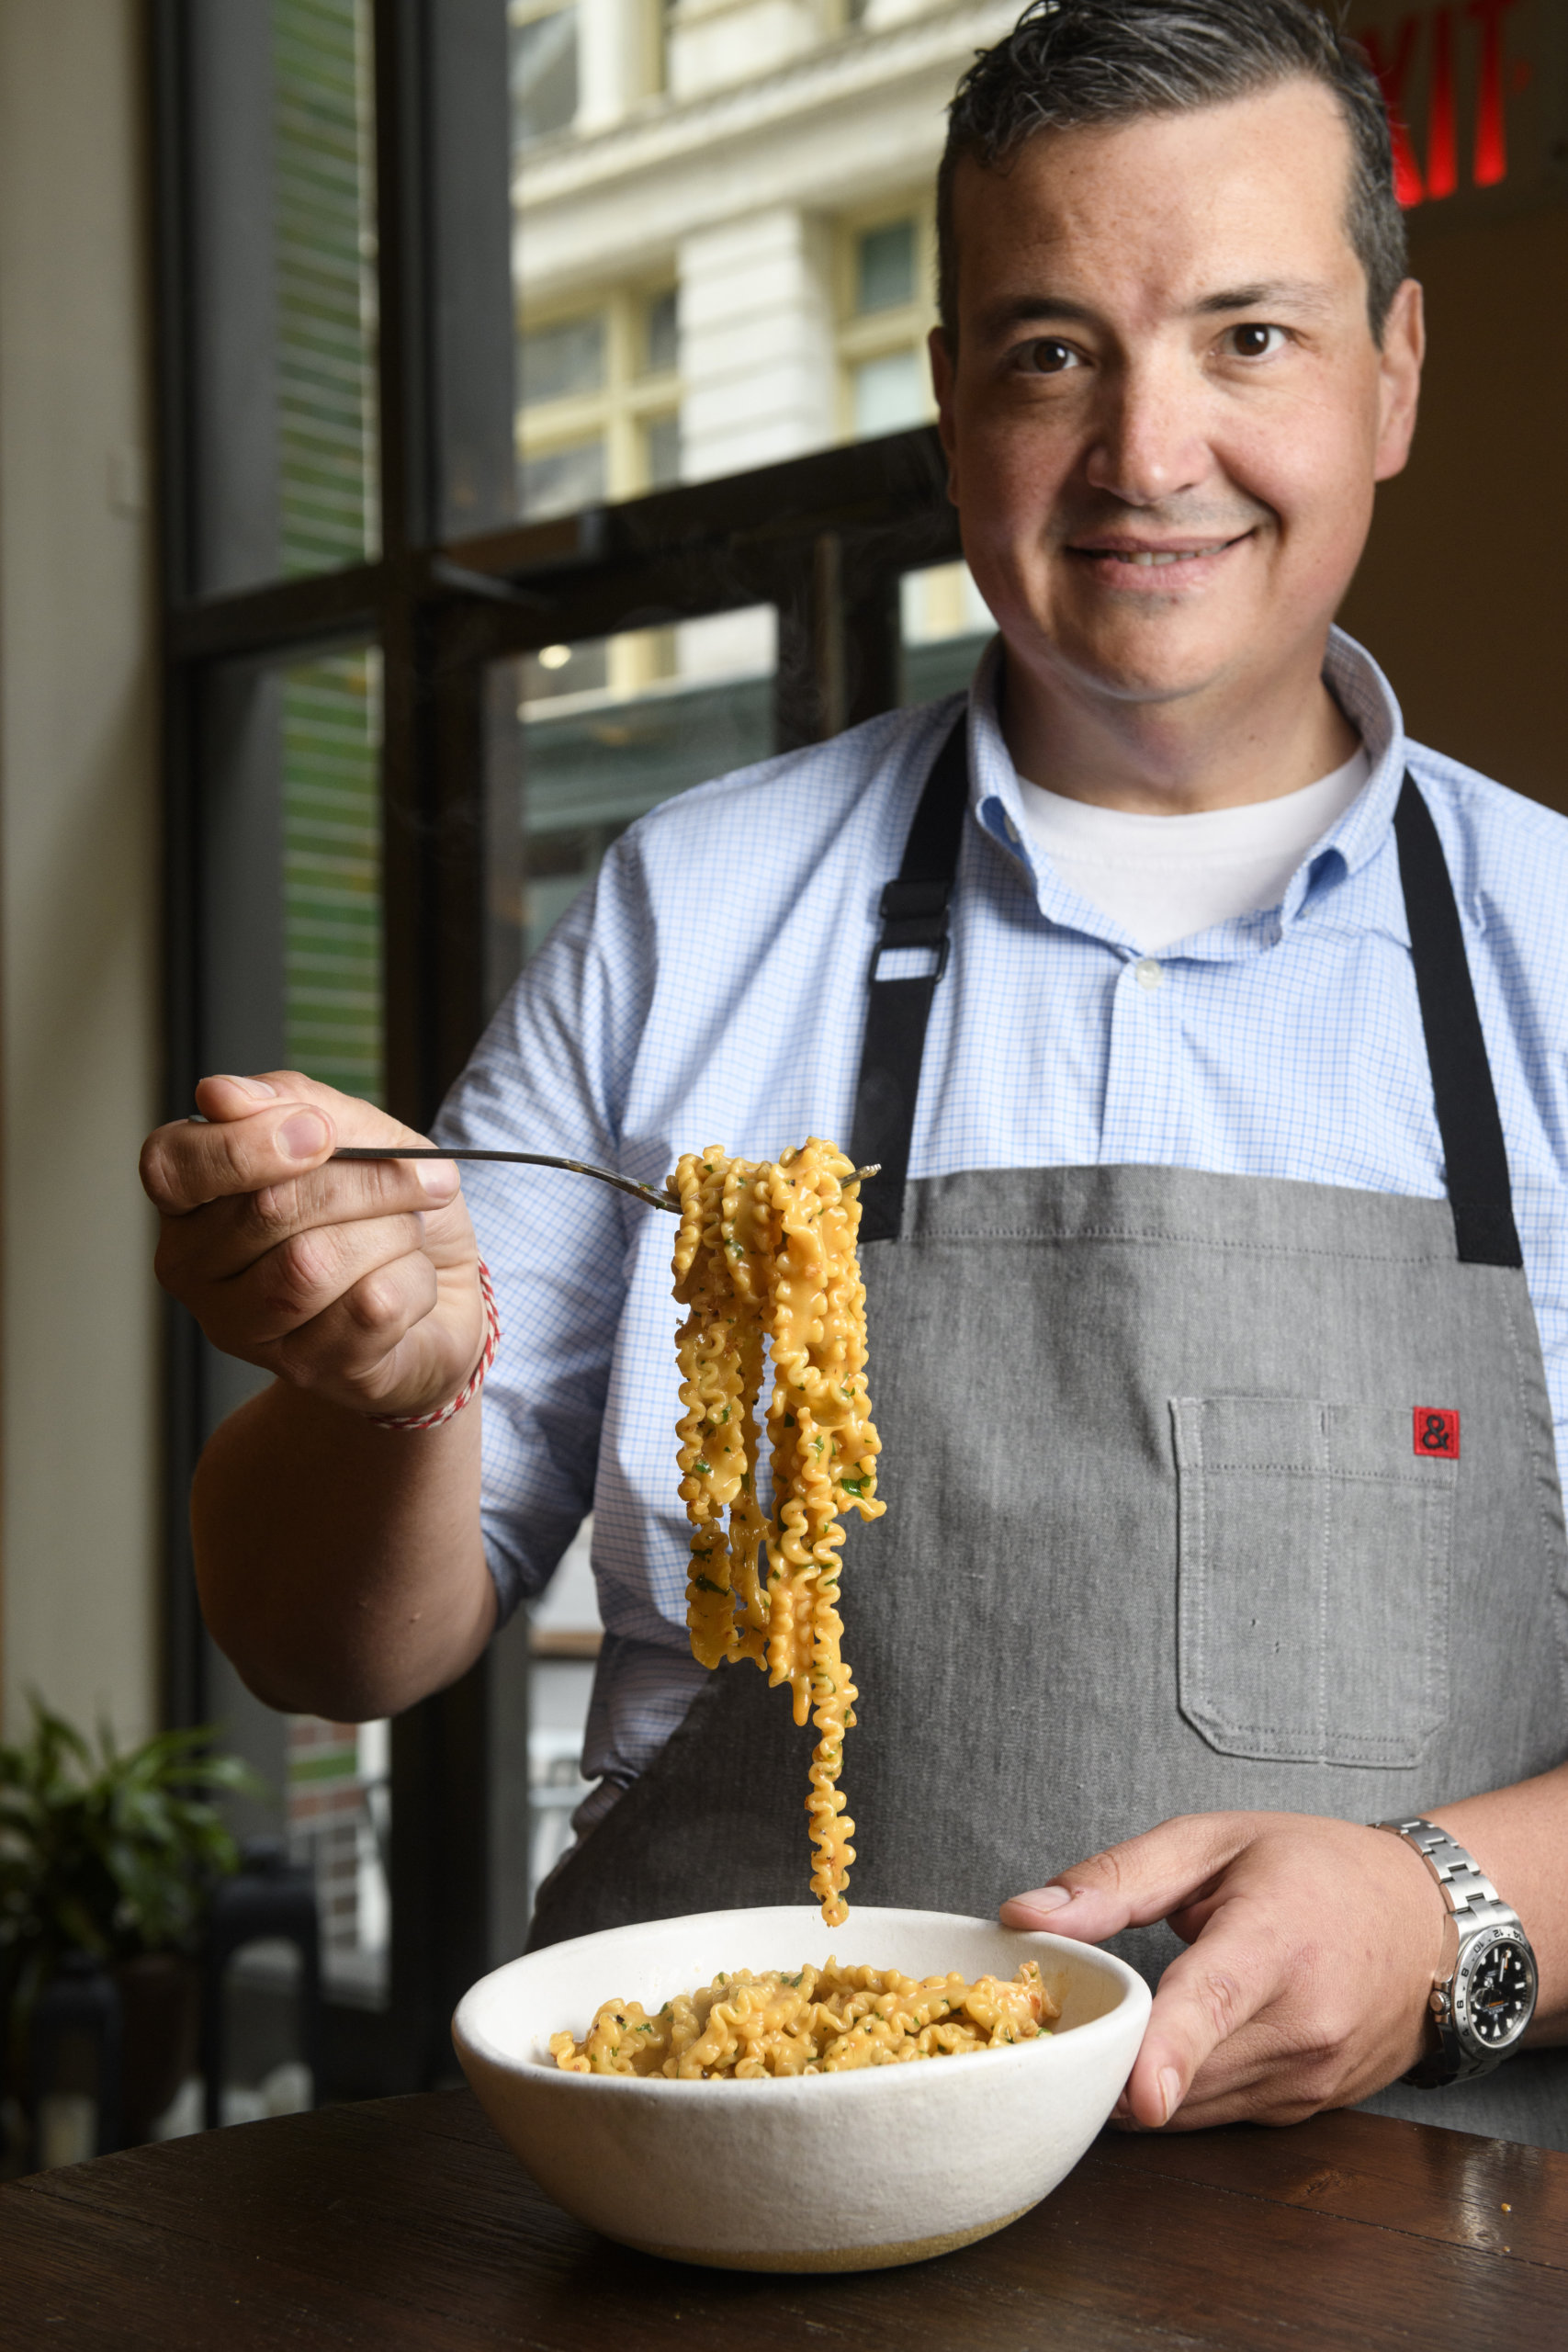
[[[914,92],[891,38],[905,14],[879,0],[867,40],[849,0],[510,0],[520,513],[933,414],[933,176],[973,40],[954,21]],[[832,127],[844,108],[853,139]],[[590,318],[599,367],[569,374],[564,339]]]

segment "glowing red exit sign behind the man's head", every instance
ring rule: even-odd
[[[1406,207],[1561,181],[1568,0],[1361,0]]]

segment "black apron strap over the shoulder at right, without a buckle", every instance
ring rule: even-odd
[[[1394,842],[1460,1265],[1523,1265],[1509,1155],[1453,877],[1432,809],[1408,769],[1394,809]]]

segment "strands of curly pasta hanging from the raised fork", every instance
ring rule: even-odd
[[[811,1757],[811,1891],[827,1926],[849,1917],[856,1849],[839,1771],[856,1686],[839,1649],[842,1515],[877,1519],[877,1430],[865,1392],[865,1284],[856,1261],[853,1162],[811,1136],[783,1160],[686,1152],[675,1296],[679,1329],[679,1494],[691,1519],[686,1625],[708,1668],[736,1658],[788,1682]],[[766,1425],[773,1517],[757,1491],[757,1395],[773,1350]],[[729,1512],[729,1522],[726,1515]],[[771,1571],[766,1559],[771,1557]]]

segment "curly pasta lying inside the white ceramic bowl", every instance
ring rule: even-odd
[[[844,2074],[912,2058],[1034,2042],[1060,2016],[1025,1959],[1004,1983],[980,1976],[900,1976],[898,1969],[799,1969],[785,1976],[715,1976],[677,1992],[658,2016],[639,2002],[604,2002],[576,2042],[550,2037],[567,2074],[665,2074],[670,2082],[757,2082],[764,2074]]]

